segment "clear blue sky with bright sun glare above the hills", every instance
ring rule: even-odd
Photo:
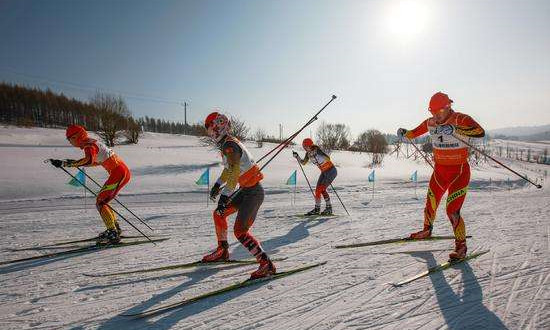
[[[291,134],[321,121],[394,133],[443,91],[486,129],[550,123],[550,1],[0,0],[0,81],[135,116],[213,109]]]

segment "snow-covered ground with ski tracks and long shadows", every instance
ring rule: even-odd
[[[272,147],[248,146],[256,158]],[[339,175],[334,186],[352,216],[345,216],[332,194],[340,217],[305,220],[296,215],[311,209],[312,198],[299,168],[295,205],[284,184],[297,169],[290,150],[265,171],[267,195],[253,232],[271,257],[287,258],[276,263],[279,271],[320,261],[326,265],[151,318],[121,316],[242,281],[256,265],[85,276],[192,262],[216,244],[214,206],[206,206],[206,188],[194,182],[209,166],[213,176],[220,173],[217,152],[194,137],[151,133],[139,145],[117,146],[115,151],[133,175],[120,200],[155,228],[154,235],[170,239],[157,246],[0,265],[1,329],[550,329],[546,180],[543,189],[535,189],[495,166],[474,169],[462,211],[467,234],[473,236],[468,247],[490,252],[393,288],[387,283],[445,261],[453,241],[333,246],[419,230],[431,168],[402,155],[387,157],[376,169],[373,198],[372,183],[367,182],[370,156],[335,152]],[[103,230],[93,198],[84,198],[81,188],[67,185],[64,172],[43,163],[46,158],[79,156],[63,130],[0,127],[0,262],[63,250],[10,249],[91,237]],[[546,168],[506,164],[538,182],[541,168]],[[311,165],[305,169],[315,182],[318,170]],[[418,198],[409,181],[415,170]],[[106,178],[100,168],[88,173],[101,182]],[[128,212],[122,213],[140,225]],[[124,222],[121,225],[125,234],[136,234]],[[452,235],[442,208],[434,231]],[[232,258],[249,258],[234,237],[229,241]]]

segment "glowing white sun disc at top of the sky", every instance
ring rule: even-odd
[[[426,1],[396,1],[388,10],[388,32],[399,40],[412,40],[426,29],[429,18],[430,11]]]

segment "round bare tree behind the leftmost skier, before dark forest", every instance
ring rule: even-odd
[[[101,92],[96,92],[92,96],[90,104],[100,110],[97,134],[107,146],[113,147],[122,131],[126,129],[128,118],[131,116],[128,105],[121,96]]]

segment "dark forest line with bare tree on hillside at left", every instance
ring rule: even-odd
[[[151,117],[134,118],[126,101],[117,95],[96,92],[87,102],[17,84],[0,83],[0,123],[64,128],[78,124],[95,131],[109,146],[121,138],[137,143],[143,131],[205,135],[201,124],[186,125]]]

